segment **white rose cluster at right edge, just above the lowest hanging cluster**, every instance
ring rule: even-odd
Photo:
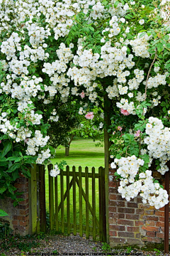
[[[149,156],[159,159],[161,168],[157,171],[164,175],[166,171],[169,171],[166,162],[170,160],[170,128],[164,128],[162,120],[149,117],[146,133],[149,136],[145,138],[144,142],[148,145]]]

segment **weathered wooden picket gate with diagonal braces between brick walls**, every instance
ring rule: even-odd
[[[70,171],[61,170],[60,175],[53,178],[49,171],[49,210],[50,230],[71,232],[86,238],[91,235],[94,240],[99,238],[106,242],[106,196],[104,169],[94,167],[76,171],[75,166]],[[55,180],[55,181],[54,181]],[[91,200],[90,200],[91,199]]]

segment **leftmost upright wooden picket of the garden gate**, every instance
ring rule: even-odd
[[[49,181],[49,210],[50,210],[50,230],[54,228],[54,188],[53,177],[50,176],[50,171],[53,169],[53,165],[49,164],[48,168],[48,181]]]

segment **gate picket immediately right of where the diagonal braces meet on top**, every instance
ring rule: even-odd
[[[79,235],[83,237],[83,212],[82,212],[82,177],[81,177],[81,166],[79,166]]]

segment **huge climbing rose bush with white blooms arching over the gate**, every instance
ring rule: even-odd
[[[109,106],[122,196],[168,202],[149,167],[164,174],[169,161],[169,16],[165,1],[144,2],[0,1],[0,193],[13,195],[23,163],[49,162],[50,124],[74,102],[87,119]]]

